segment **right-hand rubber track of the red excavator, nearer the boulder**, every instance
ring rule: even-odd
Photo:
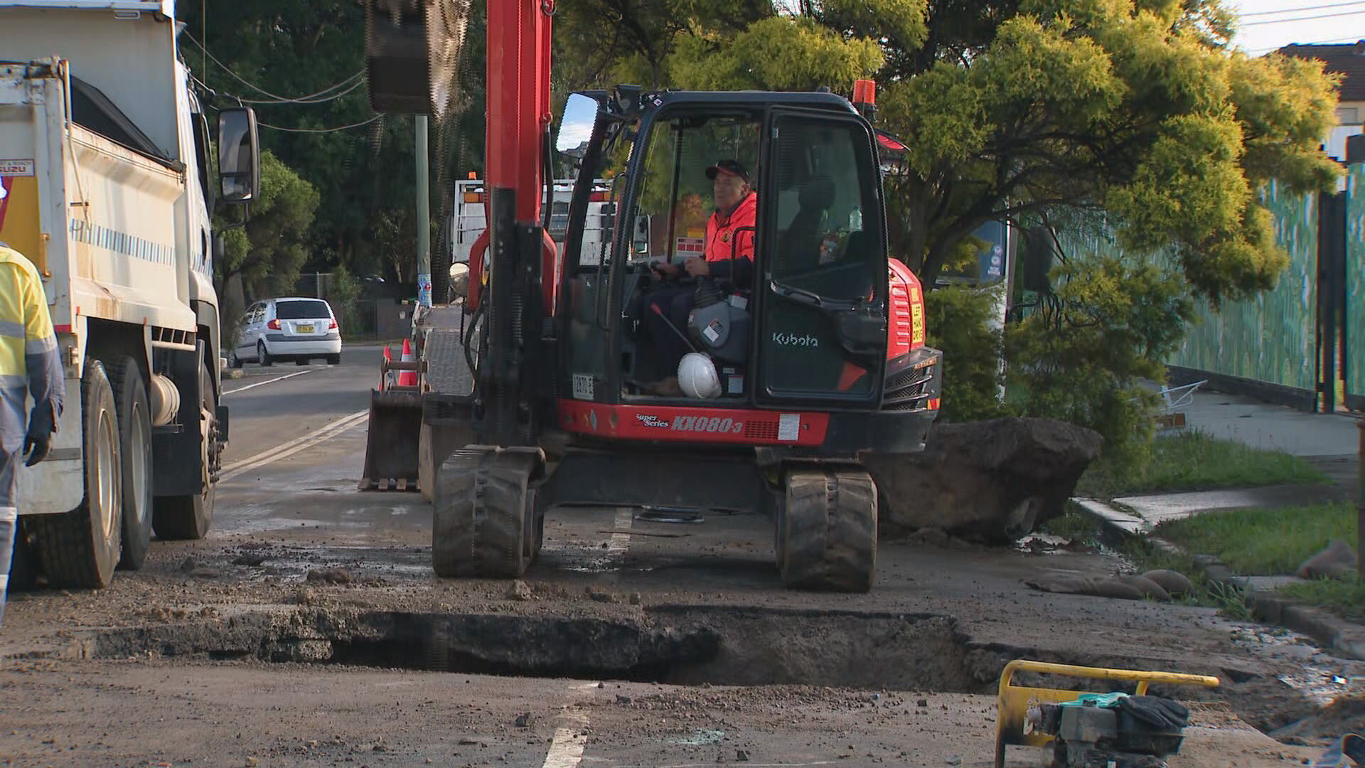
[[[876,570],[876,485],[865,471],[786,476],[778,568],[797,589],[867,592]]]

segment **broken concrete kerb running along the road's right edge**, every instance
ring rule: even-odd
[[[1152,536],[1151,525],[1143,518],[1097,499],[1072,499],[1072,502],[1100,523],[1102,533],[1108,540],[1143,538],[1167,552],[1185,553],[1185,549],[1174,541]],[[1204,578],[1208,581],[1238,589],[1246,597],[1252,615],[1257,620],[1308,635],[1323,649],[1347,659],[1365,660],[1365,627],[1353,625],[1321,608],[1299,605],[1280,597],[1272,589],[1257,586],[1256,577],[1235,575],[1213,555],[1192,555],[1192,559],[1204,571]],[[1294,578],[1294,581],[1299,579]]]

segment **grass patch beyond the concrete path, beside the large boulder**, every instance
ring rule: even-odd
[[[1078,496],[1112,499],[1159,491],[1205,491],[1294,482],[1330,482],[1298,456],[1185,432],[1158,437],[1137,459],[1100,458],[1081,476]]]

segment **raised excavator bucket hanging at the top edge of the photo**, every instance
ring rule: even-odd
[[[459,101],[470,0],[364,0],[364,68],[375,112],[433,115]]]

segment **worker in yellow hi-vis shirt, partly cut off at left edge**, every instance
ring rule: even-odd
[[[25,463],[33,466],[46,458],[61,415],[61,358],[42,280],[33,262],[0,243],[0,625],[19,525],[19,461],[26,456]]]

